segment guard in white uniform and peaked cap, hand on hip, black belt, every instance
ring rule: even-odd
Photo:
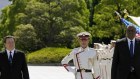
[[[62,61],[62,65],[68,72],[75,74],[75,79],[100,79],[97,54],[93,48],[88,47],[90,33],[77,34],[80,47],[74,48]],[[73,60],[74,68],[68,63]]]

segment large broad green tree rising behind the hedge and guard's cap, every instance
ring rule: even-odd
[[[53,0],[46,3],[30,1],[25,12],[17,16],[17,23],[32,24],[37,37],[44,46],[72,47],[73,45],[70,44],[79,32],[72,29],[88,29],[88,19],[86,18],[88,10],[84,0],[76,3],[75,1]]]

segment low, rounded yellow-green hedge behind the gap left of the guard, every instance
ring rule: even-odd
[[[70,51],[68,48],[43,48],[27,54],[27,61],[31,64],[60,63]]]

